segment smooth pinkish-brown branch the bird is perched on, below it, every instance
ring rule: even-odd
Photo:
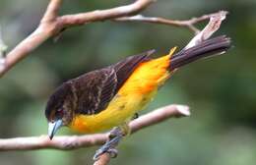
[[[160,109],[154,110],[146,115],[133,120],[129,127],[132,134],[150,127],[152,125],[163,122],[171,117],[189,116],[189,108],[184,105],[168,105]],[[30,138],[0,138],[0,151],[10,150],[32,150],[32,149],[76,149],[80,147],[90,147],[101,145],[108,138],[108,134],[96,134],[87,136],[63,136],[55,137],[50,140],[47,136],[30,137]]]

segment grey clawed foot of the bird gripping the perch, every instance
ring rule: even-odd
[[[97,160],[99,156],[104,153],[109,153],[111,158],[115,158],[118,154],[118,151],[115,147],[118,145],[121,138],[123,138],[123,133],[120,128],[114,128],[111,130],[109,139],[99,149],[96,150],[94,160]]]

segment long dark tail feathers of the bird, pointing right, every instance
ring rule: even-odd
[[[205,40],[202,43],[186,50],[181,50],[170,58],[169,70],[172,71],[198,59],[223,53],[230,47],[230,42],[230,38],[222,35]]]

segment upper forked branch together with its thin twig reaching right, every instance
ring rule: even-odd
[[[195,31],[199,30],[194,27],[194,24],[205,21],[212,17],[214,14],[204,15],[199,18],[194,18],[188,21],[172,21],[163,18],[147,18],[137,15],[155,0],[137,0],[130,5],[116,7],[106,10],[96,10],[93,12],[58,16],[58,12],[62,0],[50,0],[48,7],[42,17],[38,27],[19,43],[13,50],[11,50],[5,58],[1,59],[0,63],[0,78],[8,72],[14,65],[19,63],[22,59],[27,57],[36,47],[42,44],[50,37],[57,36],[64,28],[81,26],[93,22],[101,22],[105,20],[114,20],[118,22],[146,22],[155,24],[164,24],[176,27],[188,27]],[[134,16],[137,15],[137,16]],[[130,17],[134,16],[134,17]]]

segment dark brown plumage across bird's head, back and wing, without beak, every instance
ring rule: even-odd
[[[97,114],[105,109],[109,101],[117,93],[123,83],[129,78],[134,69],[142,62],[149,60],[149,56],[155,50],[130,56],[119,63],[106,68],[84,74],[76,79],[62,83],[51,95],[47,102],[45,116],[50,121],[56,112],[56,116],[68,114],[72,118],[73,113]],[[65,112],[61,106],[73,110],[73,113]],[[62,109],[63,111],[56,111]],[[70,119],[67,119],[70,121]]]

